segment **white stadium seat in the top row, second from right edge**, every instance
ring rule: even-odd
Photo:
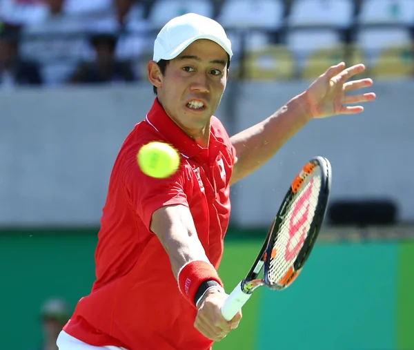
[[[348,28],[353,23],[353,11],[353,0],[295,0],[290,8],[288,26]]]

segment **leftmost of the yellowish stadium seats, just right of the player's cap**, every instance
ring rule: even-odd
[[[295,59],[286,46],[272,45],[260,51],[247,52],[244,78],[250,80],[292,79]]]

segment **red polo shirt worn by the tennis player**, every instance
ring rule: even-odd
[[[154,179],[137,166],[139,148],[168,142],[181,153],[179,171]],[[110,177],[95,254],[97,280],[63,328],[95,346],[128,350],[206,350],[213,342],[194,328],[197,310],[179,292],[170,260],[149,229],[162,206],[190,208],[206,254],[216,269],[230,216],[229,180],[235,149],[212,117],[208,148],[190,139],[155,102],[126,138]]]

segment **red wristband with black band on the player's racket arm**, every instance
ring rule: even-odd
[[[177,280],[181,294],[193,305],[210,287],[223,286],[214,266],[203,260],[193,260],[181,267]]]

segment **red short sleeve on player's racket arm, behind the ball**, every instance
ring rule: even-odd
[[[156,179],[144,174],[137,164],[137,151],[140,145],[127,150],[123,162],[124,189],[130,205],[144,222],[148,231],[152,213],[163,206],[182,204],[188,206],[184,191],[185,168],[166,179]],[[188,179],[187,179],[188,181]]]

